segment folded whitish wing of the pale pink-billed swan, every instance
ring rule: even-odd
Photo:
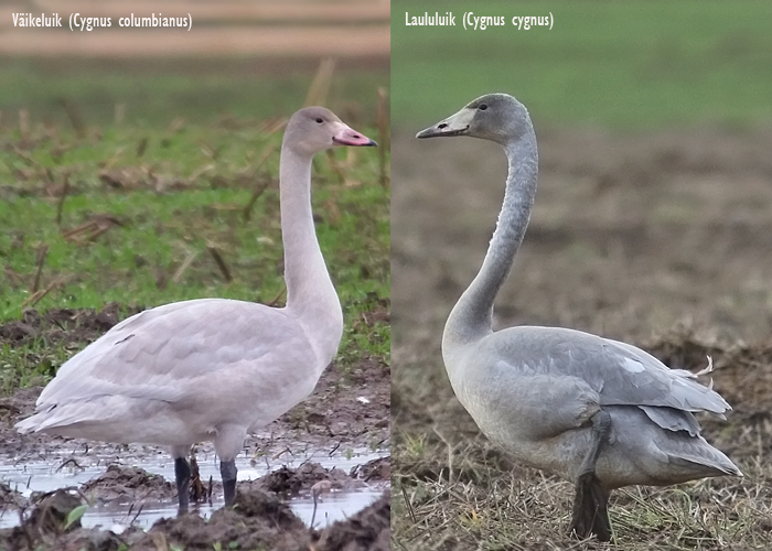
[[[65,363],[37,408],[105,395],[174,402],[197,377],[256,363],[280,343],[304,342],[283,311],[260,304],[204,299],[159,306],[125,320]]]

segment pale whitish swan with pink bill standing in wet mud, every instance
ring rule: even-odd
[[[202,299],[129,317],[62,366],[18,430],[170,446],[181,511],[191,446],[213,440],[230,504],[247,433],[307,398],[341,342],[341,303],[311,212],[311,160],[335,145],[375,142],[322,107],[287,123],[279,169],[285,307]]]

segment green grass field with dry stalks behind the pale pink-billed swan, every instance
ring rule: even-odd
[[[32,87],[31,67],[0,73],[9,71],[22,75],[17,80],[22,88]],[[221,75],[201,90],[196,75],[85,71],[41,75],[52,87],[31,95],[29,104],[22,95],[9,96],[13,82],[6,80],[3,110],[26,108],[31,122],[26,136],[8,118],[0,131],[0,324],[18,320],[25,307],[99,310],[114,301],[127,311],[204,296],[283,303],[282,131],[270,131],[269,115],[276,121],[299,108],[312,76],[264,78],[261,88],[249,89],[246,78]],[[376,139],[378,85],[388,85],[387,73],[343,76],[333,80],[330,101]],[[349,86],[356,93],[346,93]],[[287,89],[275,110],[265,101],[272,88]],[[94,90],[104,101],[90,102]],[[185,90],[189,97],[181,99]],[[81,136],[57,94],[77,106]],[[127,108],[126,120],[116,125],[112,104],[131,104],[141,95],[153,104],[135,117]],[[218,100],[202,108],[208,96]],[[361,323],[363,312],[383,307],[389,298],[389,190],[378,176],[377,150],[341,149],[314,161],[319,240],[346,316],[339,356],[344,366],[368,355],[388,363],[388,324]],[[264,191],[247,220],[245,207],[256,188]],[[41,365],[51,375],[72,352],[45,342],[0,344],[0,388],[28,383]]]

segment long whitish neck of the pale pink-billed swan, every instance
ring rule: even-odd
[[[343,313],[313,225],[311,159],[282,144],[279,195],[287,310],[303,323],[320,355],[331,360],[343,333]]]

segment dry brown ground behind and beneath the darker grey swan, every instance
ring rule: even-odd
[[[768,510],[770,472],[759,465],[772,453],[772,129],[635,136],[543,129],[538,139],[536,206],[498,294],[496,325],[589,331],[687,369],[704,367],[712,355],[715,387],[735,411],[726,423],[701,420],[705,435],[747,476],[715,482],[709,488],[718,489],[700,494],[707,500],[700,506],[711,519],[720,514],[711,501],[755,491],[747,510]],[[395,510],[401,515],[393,519],[393,543],[396,549],[575,545],[564,536],[570,487],[512,464],[480,436],[440,359],[444,320],[476,273],[494,228],[504,155],[481,140],[417,142],[406,131],[394,134],[393,159],[393,472]],[[447,482],[451,468],[459,477],[454,484]],[[483,472],[487,475],[480,476]],[[510,497],[486,508],[496,488]],[[532,496],[527,503],[525,495]],[[687,495],[697,501],[697,494]],[[729,500],[729,508],[737,509],[736,503]],[[722,507],[726,514],[727,504]],[[651,532],[623,514],[612,505],[618,534],[644,545]],[[688,532],[683,526],[654,522],[652,531],[664,536],[651,544],[723,549],[722,533],[757,522],[729,548],[764,548],[770,527],[758,523],[758,515],[738,514],[723,532],[708,522],[708,536],[688,543],[676,541]],[[502,527],[512,530],[506,545],[490,532]],[[668,539],[678,530],[676,540]]]

